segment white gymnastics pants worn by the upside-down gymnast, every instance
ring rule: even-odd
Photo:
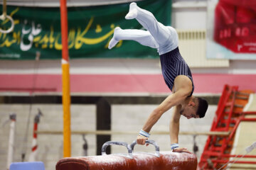
[[[135,3],[132,4],[134,5]],[[117,42],[119,40],[134,40],[142,45],[156,48],[159,51],[159,55],[178,47],[178,35],[174,28],[159,23],[151,12],[139,8],[136,4],[134,8],[134,10],[137,10],[135,18],[146,30],[115,28],[114,40]]]

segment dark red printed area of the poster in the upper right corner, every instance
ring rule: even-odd
[[[218,1],[213,38],[232,52],[256,53],[256,1]]]

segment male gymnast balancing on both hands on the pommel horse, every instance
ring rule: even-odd
[[[203,118],[208,109],[208,103],[203,98],[193,96],[193,78],[188,64],[178,50],[178,34],[174,28],[159,23],[151,12],[139,8],[134,2],[130,4],[129,13],[125,18],[137,19],[146,30],[114,28],[109,49],[112,49],[119,40],[134,40],[142,45],[156,48],[160,55],[164,81],[172,91],[172,94],[151,112],[137,136],[137,143],[145,145],[153,125],[161,115],[174,107],[169,124],[171,149],[173,152],[189,152],[186,148],[178,146],[179,120],[181,115],[188,119]]]

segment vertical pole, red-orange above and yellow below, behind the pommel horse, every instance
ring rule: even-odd
[[[63,157],[71,157],[70,140],[70,72],[68,57],[68,10],[67,1],[60,0],[63,79]]]

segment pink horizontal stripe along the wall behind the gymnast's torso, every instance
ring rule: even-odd
[[[61,92],[60,74],[0,74],[0,91]],[[195,93],[221,93],[225,84],[256,91],[256,74],[193,74]],[[34,85],[33,85],[34,84]],[[161,74],[72,74],[71,92],[169,93]]]

